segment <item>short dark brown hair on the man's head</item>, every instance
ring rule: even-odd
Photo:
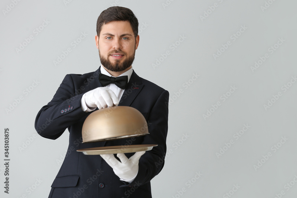
[[[97,19],[96,31],[98,37],[103,24],[111,21],[129,21],[136,39],[138,35],[138,20],[132,10],[119,6],[113,6],[103,10]]]

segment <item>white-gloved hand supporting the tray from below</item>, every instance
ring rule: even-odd
[[[113,169],[113,172],[121,179],[127,182],[132,182],[138,173],[138,163],[140,157],[145,151],[136,152],[129,159],[124,153],[118,153],[116,156],[121,160],[117,160],[113,154],[100,155],[108,165]]]

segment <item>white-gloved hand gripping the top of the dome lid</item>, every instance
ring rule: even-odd
[[[116,94],[107,87],[98,87],[86,92],[85,102],[87,107],[98,107],[102,109],[105,107],[112,107],[119,104],[119,99]]]

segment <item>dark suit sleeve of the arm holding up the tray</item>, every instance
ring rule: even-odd
[[[148,130],[142,144],[157,144],[151,151],[146,151],[139,160],[136,178],[124,186],[138,186],[149,182],[164,166],[166,155],[166,137],[168,131],[168,99],[169,92],[163,91],[149,113]]]

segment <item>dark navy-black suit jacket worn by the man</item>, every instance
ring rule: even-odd
[[[150,180],[164,166],[168,130],[168,91],[140,78],[134,71],[119,106],[138,109],[148,123],[148,135],[106,142],[82,142],[82,125],[90,113],[83,112],[80,100],[97,87],[100,68],[91,73],[68,74],[53,99],[38,112],[35,129],[45,138],[57,139],[69,130],[69,147],[61,169],[52,184],[49,197],[151,197]],[[76,150],[113,145],[157,144],[139,160],[139,171],[131,183],[119,180],[99,155],[84,155]],[[134,153],[126,153],[129,158]]]

